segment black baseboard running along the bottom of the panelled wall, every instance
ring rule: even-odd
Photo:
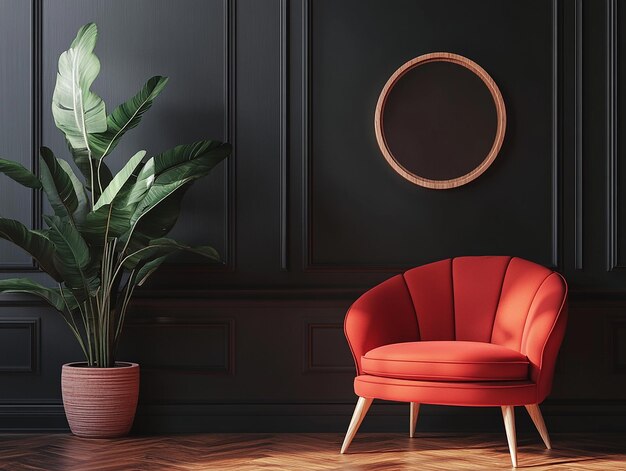
[[[344,432],[353,404],[151,404],[140,405],[133,427],[137,434],[200,432]],[[548,429],[560,432],[626,432],[626,404],[546,403],[542,411]],[[405,432],[408,406],[374,403],[363,432]],[[520,434],[534,433],[528,414],[516,409]],[[0,432],[67,431],[61,404],[0,405]],[[424,405],[418,432],[502,432],[500,410]]]

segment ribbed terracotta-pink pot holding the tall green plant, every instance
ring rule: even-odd
[[[139,365],[117,362],[115,368],[67,363],[61,371],[65,415],[74,435],[122,437],[130,432],[139,396]]]

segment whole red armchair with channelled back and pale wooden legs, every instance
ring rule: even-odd
[[[341,453],[374,399],[502,408],[517,466],[514,406],[551,448],[539,404],[567,321],[561,275],[516,257],[459,257],[414,268],[363,294],[345,318],[359,396]]]

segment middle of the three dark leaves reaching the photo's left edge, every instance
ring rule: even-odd
[[[56,281],[62,280],[54,265],[55,246],[43,233],[31,231],[19,221],[0,218],[0,238],[13,242],[28,252]]]

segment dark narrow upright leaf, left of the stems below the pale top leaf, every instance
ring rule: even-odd
[[[47,147],[41,148],[39,167],[41,184],[54,209],[54,214],[59,217],[69,217],[74,214],[74,211],[78,209],[78,196],[74,190],[74,183]]]

